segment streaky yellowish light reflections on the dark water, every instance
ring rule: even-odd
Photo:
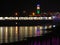
[[[42,36],[47,33],[49,26],[0,26],[0,43],[15,42],[27,39],[27,37]],[[51,31],[50,31],[51,32]]]

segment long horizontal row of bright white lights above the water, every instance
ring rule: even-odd
[[[52,20],[52,17],[0,17],[0,20]]]

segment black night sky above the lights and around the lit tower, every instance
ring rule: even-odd
[[[58,0],[2,0],[0,1],[0,14],[10,14],[15,10],[32,11],[36,8],[37,2],[41,5],[41,10],[60,11],[60,2]]]

